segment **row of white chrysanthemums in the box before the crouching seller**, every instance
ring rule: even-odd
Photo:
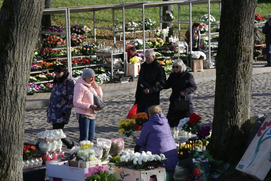
[[[163,165],[163,161],[166,161],[164,154],[152,155],[151,152],[134,152],[132,150],[121,150],[118,152],[118,156],[121,156],[120,162],[116,162],[116,166],[129,167],[132,169],[148,169],[148,167],[157,168],[159,165]]]

